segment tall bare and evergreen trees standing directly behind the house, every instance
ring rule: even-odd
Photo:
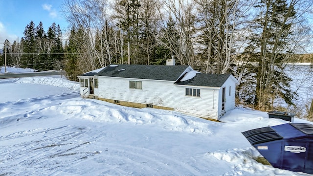
[[[51,55],[52,46],[61,52],[58,42],[41,51],[62,61],[70,80],[113,63],[164,65],[175,58],[204,73],[233,74],[241,103],[272,110],[275,100],[292,106],[297,97],[286,64],[312,62],[312,55],[303,57],[312,44],[312,5],[312,0],[65,0],[64,55]],[[59,34],[56,30],[54,37]],[[45,48],[51,39],[39,43]],[[39,56],[44,55],[38,61]],[[33,63],[37,60],[26,64]]]

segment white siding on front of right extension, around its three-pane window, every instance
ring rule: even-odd
[[[185,88],[200,89],[200,97],[185,96]],[[196,86],[175,86],[175,108],[186,114],[217,119],[218,116],[218,88],[205,88]]]

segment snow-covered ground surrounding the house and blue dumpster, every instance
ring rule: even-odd
[[[254,160],[241,132],[288,123],[267,112],[237,108],[221,123],[78,90],[58,76],[0,79],[0,176],[308,176]]]

